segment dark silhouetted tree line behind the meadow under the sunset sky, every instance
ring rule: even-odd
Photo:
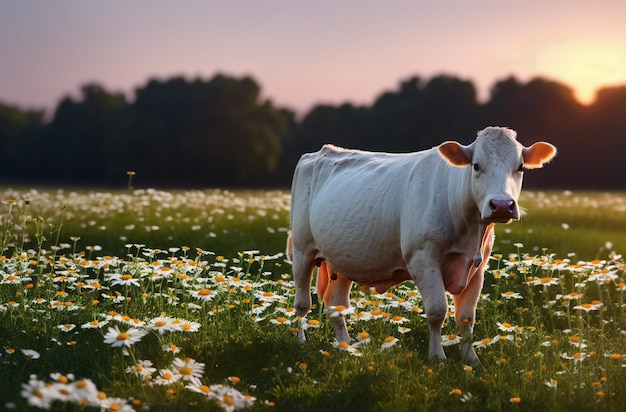
[[[471,81],[408,78],[371,105],[317,105],[302,118],[261,97],[251,77],[151,79],[132,99],[91,83],[51,116],[0,102],[0,182],[143,187],[288,187],[305,152],[324,143],[407,152],[470,143],[485,126],[511,127],[558,156],[526,185],[624,189],[626,86],[584,106],[568,86],[497,81],[486,102]]]

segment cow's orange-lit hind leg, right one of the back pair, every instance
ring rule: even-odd
[[[328,284],[326,285],[325,290],[321,292],[323,293],[322,298],[324,299],[324,304],[327,307],[350,307],[350,288],[352,287],[351,280],[342,276],[340,273],[335,272],[326,261],[322,262],[318,276],[328,277]],[[319,289],[318,293],[320,293]],[[328,316],[333,325],[335,339],[337,339],[337,342],[350,343],[350,334],[348,333],[344,316],[339,313],[331,313]]]

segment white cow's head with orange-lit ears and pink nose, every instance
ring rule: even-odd
[[[517,133],[503,127],[487,127],[468,146],[445,142],[439,153],[453,166],[471,167],[472,194],[481,218],[508,223],[519,219],[517,199],[525,169],[536,169],[552,160],[556,148],[537,142],[524,147]]]

